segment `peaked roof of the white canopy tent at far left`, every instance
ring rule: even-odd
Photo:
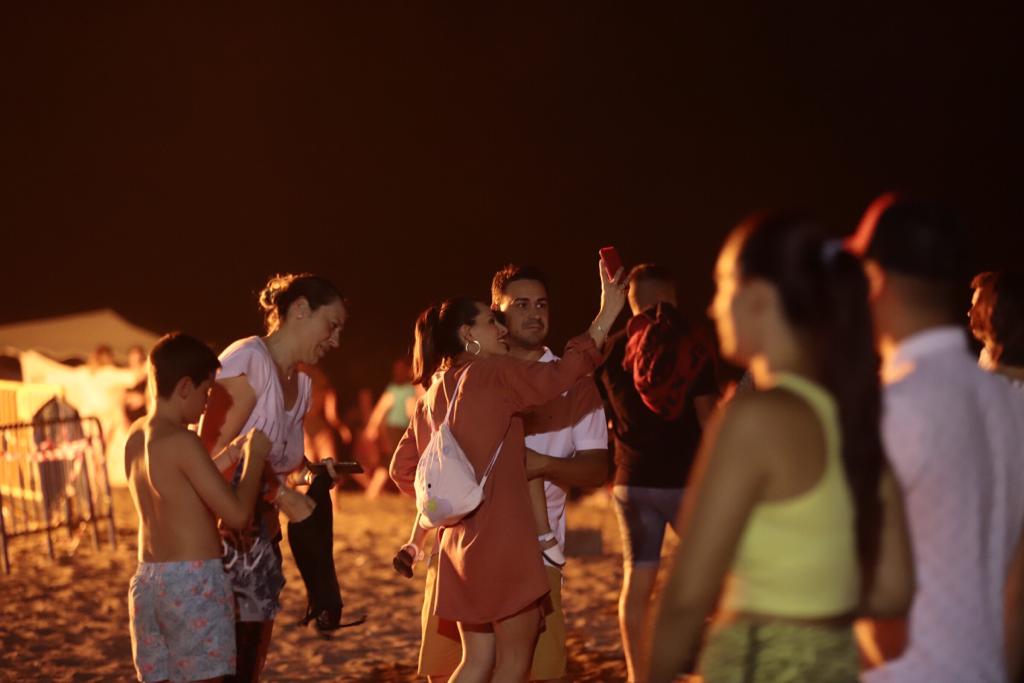
[[[60,360],[85,359],[97,346],[106,345],[114,359],[124,364],[132,346],[148,352],[158,339],[159,335],[132,325],[111,308],[0,326],[0,350],[10,355],[34,350]]]

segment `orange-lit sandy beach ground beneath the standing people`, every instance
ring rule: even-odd
[[[12,570],[0,574],[0,680],[129,681],[134,679],[128,637],[128,581],[135,570],[135,519],[126,489],[116,490],[118,547],[101,533],[99,551],[88,533],[76,547],[54,533],[57,559],[42,537],[11,545]],[[295,626],[305,608],[305,589],[282,545],[288,586],[283,595],[264,680],[411,681],[416,679],[423,568],[407,580],[391,569],[414,505],[383,496],[367,501],[342,494],[335,517],[335,560],[345,618],[367,623],[323,640]],[[622,582],[618,531],[609,495],[599,490],[570,503],[570,559],[564,604],[569,680],[621,681],[625,665],[615,616]],[[101,529],[102,530],[102,529]],[[574,550],[574,552],[573,552]]]

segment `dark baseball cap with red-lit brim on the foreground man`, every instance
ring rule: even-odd
[[[892,193],[867,207],[844,246],[887,270],[923,280],[953,282],[971,272],[970,244],[957,217],[938,204]]]

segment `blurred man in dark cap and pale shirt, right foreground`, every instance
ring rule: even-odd
[[[908,644],[864,680],[1016,680],[1021,611],[1007,589],[1022,565],[1024,401],[969,352],[966,233],[938,207],[889,195],[847,244],[870,286],[883,437],[918,571]]]

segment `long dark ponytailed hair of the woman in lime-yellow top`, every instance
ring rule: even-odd
[[[885,452],[867,281],[842,243],[824,239],[802,216],[762,214],[737,229],[743,240],[739,274],[777,288],[786,319],[807,340],[821,382],[836,398],[843,463],[856,503],[857,551],[868,586],[878,555]]]

